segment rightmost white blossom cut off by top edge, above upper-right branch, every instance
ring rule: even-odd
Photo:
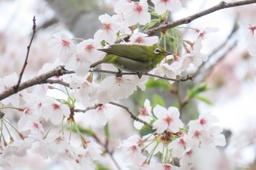
[[[152,2],[155,12],[159,15],[164,14],[166,10],[174,12],[181,8],[181,1],[179,0],[152,0]]]

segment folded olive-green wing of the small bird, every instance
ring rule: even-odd
[[[111,45],[109,48],[98,49],[105,53],[115,54],[135,61],[147,62],[148,53],[142,45]]]

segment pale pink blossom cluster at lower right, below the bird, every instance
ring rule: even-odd
[[[143,137],[131,136],[122,142],[129,169],[219,169],[217,146],[225,146],[226,142],[220,134],[222,128],[215,125],[217,117],[203,113],[197,120],[190,120],[186,128],[179,115],[176,107],[165,109],[159,105],[151,112],[150,101],[145,101],[139,117],[154,122],[157,131]],[[135,127],[141,128],[136,122]],[[159,153],[161,161],[154,163],[151,159]]]

